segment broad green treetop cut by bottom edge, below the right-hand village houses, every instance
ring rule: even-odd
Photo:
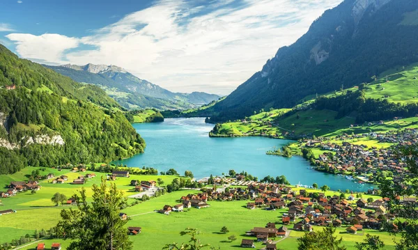
[[[316,231],[305,233],[302,237],[297,239],[298,250],[346,250],[346,247],[340,246],[343,238],[334,236],[336,229],[326,227],[323,231]]]

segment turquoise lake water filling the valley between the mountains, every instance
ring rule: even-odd
[[[291,184],[328,185],[332,190],[365,191],[371,185],[359,185],[338,175],[321,173],[309,168],[302,157],[279,157],[265,152],[286,145],[288,140],[265,137],[210,138],[213,125],[204,118],[166,118],[164,123],[139,123],[134,128],[146,141],[144,154],[114,163],[127,166],[150,166],[160,171],[186,170],[195,178],[210,174],[222,175],[234,169],[258,179],[267,175],[285,175]]]

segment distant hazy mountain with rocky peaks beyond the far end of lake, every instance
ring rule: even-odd
[[[100,86],[127,109],[189,109],[219,98],[219,95],[202,92],[173,93],[115,65],[88,63],[47,67],[75,81]]]

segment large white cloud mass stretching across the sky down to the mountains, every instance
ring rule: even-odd
[[[9,35],[17,53],[50,63],[114,64],[172,91],[228,94],[341,0],[160,1],[92,36]],[[214,8],[210,13],[201,10]],[[83,43],[97,49],[65,53]],[[65,55],[65,56],[64,56]]]

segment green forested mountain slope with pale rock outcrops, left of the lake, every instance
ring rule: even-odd
[[[0,173],[143,153],[121,106],[98,86],[80,84],[0,45]]]

